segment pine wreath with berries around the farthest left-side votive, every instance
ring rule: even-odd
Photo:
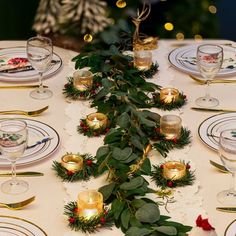
[[[64,85],[63,94],[66,98],[72,100],[85,100],[94,97],[101,87],[101,78],[99,76],[93,77],[93,84],[90,89],[81,91],[74,86],[73,77],[68,77],[68,82]]]

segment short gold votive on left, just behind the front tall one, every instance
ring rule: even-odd
[[[66,154],[61,158],[61,165],[68,171],[76,172],[83,168],[83,158],[76,154]]]

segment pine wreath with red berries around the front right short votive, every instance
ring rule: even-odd
[[[180,179],[166,179],[163,175],[164,164],[165,163],[153,166],[154,170],[152,171],[152,180],[155,181],[158,187],[161,187],[162,189],[176,188],[176,187],[183,187],[186,185],[192,185],[194,183],[195,175],[194,171],[190,170],[191,166],[189,165],[189,163],[187,164],[184,163],[186,165],[186,173]]]

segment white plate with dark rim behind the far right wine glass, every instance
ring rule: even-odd
[[[196,65],[197,47],[199,45],[189,45],[176,48],[170,52],[168,59],[176,69],[201,76]],[[231,76],[236,73],[236,48],[224,46],[224,62],[217,76]]]

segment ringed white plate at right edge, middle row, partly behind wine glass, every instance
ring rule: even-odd
[[[204,144],[217,151],[220,133],[226,129],[236,129],[236,112],[207,118],[200,124],[198,134]]]

